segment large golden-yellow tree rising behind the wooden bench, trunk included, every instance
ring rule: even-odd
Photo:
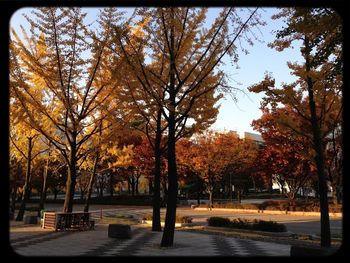
[[[45,7],[32,14],[26,17],[32,26],[26,42],[12,31],[11,89],[33,128],[60,151],[68,164],[63,211],[71,212],[77,162],[87,154],[82,146],[97,133],[100,120],[106,118],[105,105],[110,105],[108,95],[115,86],[103,75],[100,65],[111,21],[118,21],[120,14],[102,10],[99,32],[84,25],[86,14],[79,8]],[[36,39],[39,50],[33,48]],[[88,57],[84,57],[86,53]],[[105,111],[99,111],[102,107]]]

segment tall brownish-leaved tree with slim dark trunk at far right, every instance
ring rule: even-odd
[[[288,64],[298,80],[278,89],[275,88],[274,80],[266,76],[263,82],[252,86],[250,90],[266,93],[264,105],[290,105],[309,122],[311,138],[308,137],[315,152],[320,194],[321,246],[329,247],[331,238],[323,138],[329,134],[324,129],[325,116],[334,112],[333,116],[337,119],[341,116],[341,18],[335,10],[327,8],[285,8],[273,18],[280,17],[285,19],[287,26],[277,32],[276,40],[270,46],[283,51],[295,41],[301,42],[300,52],[304,64]],[[297,133],[301,132],[298,127],[289,127]]]

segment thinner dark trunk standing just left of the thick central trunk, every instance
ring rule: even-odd
[[[157,113],[157,133],[154,144],[154,156],[155,156],[155,167],[154,167],[154,189],[153,189],[153,216],[152,216],[152,231],[162,231],[160,224],[160,163],[162,153],[160,150],[160,142],[162,139],[161,134],[161,117],[162,112],[158,110]]]

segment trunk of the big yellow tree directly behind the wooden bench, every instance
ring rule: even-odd
[[[63,212],[71,213],[73,211],[73,201],[74,201],[74,192],[75,184],[77,179],[77,159],[76,159],[76,144],[71,144],[71,151],[69,155],[69,165],[68,165],[68,174],[66,182],[66,195],[64,198]]]

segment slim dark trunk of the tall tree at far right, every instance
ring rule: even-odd
[[[310,61],[309,55],[311,53],[311,48],[309,47],[308,38],[305,37],[305,67],[306,72],[310,72]],[[311,125],[313,133],[313,143],[314,150],[316,152],[315,161],[317,167],[318,175],[318,189],[320,195],[320,211],[321,211],[321,246],[330,247],[331,246],[331,233],[330,233],[330,223],[329,223],[329,209],[328,209],[328,188],[325,176],[325,165],[324,165],[324,152],[322,149],[322,139],[321,131],[317,121],[316,105],[314,100],[314,90],[313,90],[313,80],[308,75],[307,76],[307,91],[309,97],[309,108],[311,114]]]

